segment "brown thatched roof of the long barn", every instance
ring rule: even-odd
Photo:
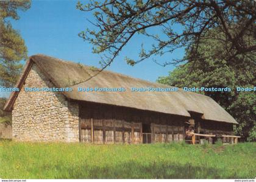
[[[134,79],[127,75],[110,71],[102,71],[87,82],[82,82],[91,77],[91,75],[96,74],[98,69],[71,61],[63,61],[57,58],[48,57],[46,55],[33,55],[29,58],[26,68],[24,68],[23,75],[16,85],[17,87],[21,88],[32,63],[35,63],[41,71],[49,77],[56,87],[69,86],[73,88],[72,92],[63,93],[68,99],[106,103],[188,117],[190,117],[190,111],[193,111],[195,113],[201,113],[203,119],[237,124],[235,119],[233,119],[227,111],[210,97],[197,93],[185,92],[182,91],[182,89],[174,92],[132,92],[130,91],[130,88],[132,87],[170,88],[170,86],[160,83],[151,83],[141,79]],[[74,83],[79,84],[74,85]],[[126,91],[84,93],[78,92],[78,87],[124,87],[126,88]],[[11,94],[9,101],[5,105],[5,110],[12,110],[12,105],[13,102],[15,102],[17,94],[18,93]]]

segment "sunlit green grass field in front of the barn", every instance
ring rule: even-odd
[[[256,143],[85,145],[0,141],[0,178],[255,178]]]

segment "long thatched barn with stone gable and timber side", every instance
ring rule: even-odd
[[[195,133],[233,135],[237,122],[210,97],[180,89],[134,92],[130,88],[171,87],[110,71],[88,80],[96,72],[71,61],[31,56],[16,83],[19,91],[10,95],[4,107],[12,111],[13,139],[171,142],[184,140],[189,125]],[[82,88],[112,90],[79,91]]]

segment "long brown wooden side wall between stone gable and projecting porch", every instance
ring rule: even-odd
[[[80,103],[80,141],[94,144],[140,144],[142,123],[151,125],[152,142],[181,141],[187,117],[98,103]]]

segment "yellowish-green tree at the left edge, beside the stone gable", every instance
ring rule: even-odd
[[[9,18],[19,19],[18,10],[27,10],[29,0],[0,1],[0,85],[13,86],[20,75],[21,60],[27,57],[27,47],[20,33],[12,28]]]

